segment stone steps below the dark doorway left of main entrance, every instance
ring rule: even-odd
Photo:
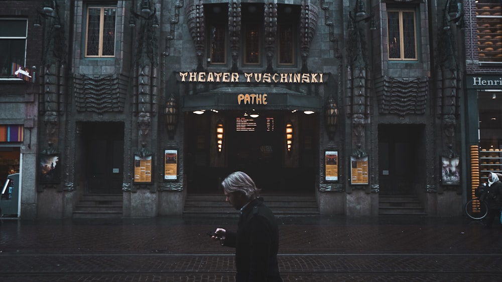
[[[122,217],[122,194],[83,194],[73,218]]]

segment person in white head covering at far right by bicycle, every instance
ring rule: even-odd
[[[488,213],[484,218],[484,226],[491,228],[493,220],[500,222],[500,208],[502,208],[502,183],[496,173],[488,175],[488,186],[484,189],[480,199],[488,204]]]

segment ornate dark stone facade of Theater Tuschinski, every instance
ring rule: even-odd
[[[37,173],[22,171],[20,216],[71,217],[89,193],[120,195],[124,217],[182,214],[235,170],[265,194],[315,195],[322,214],[407,198],[462,214],[477,145],[464,76],[485,66],[472,2],[39,3],[23,14],[44,52],[21,101],[40,115],[21,117],[38,142],[21,141]]]

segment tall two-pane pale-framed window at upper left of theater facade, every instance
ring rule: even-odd
[[[106,58],[115,56],[116,7],[89,7],[85,57]]]

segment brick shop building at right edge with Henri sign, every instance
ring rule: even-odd
[[[468,193],[502,172],[502,11],[500,0],[464,1],[465,144]],[[469,151],[470,148],[470,151]],[[470,182],[469,182],[470,181]]]

